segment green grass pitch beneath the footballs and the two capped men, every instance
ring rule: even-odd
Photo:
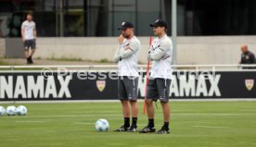
[[[256,146],[256,102],[170,104],[171,134],[165,135],[113,132],[122,125],[119,103],[24,104],[28,107],[27,116],[0,117],[0,147]],[[139,105],[142,110],[143,104]],[[147,125],[147,116],[141,114],[140,111],[139,129]],[[109,120],[109,132],[96,132],[98,118]],[[160,104],[155,124],[160,129]]]

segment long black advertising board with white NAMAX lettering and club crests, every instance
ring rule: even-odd
[[[174,72],[170,99],[256,98],[256,71]],[[146,73],[138,81],[145,96]],[[0,72],[0,101],[115,100],[116,72]]]

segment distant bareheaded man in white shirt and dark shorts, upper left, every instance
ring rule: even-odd
[[[36,28],[32,20],[32,14],[27,14],[27,19],[21,25],[21,37],[25,47],[25,57],[27,64],[32,64],[32,55],[35,52]],[[30,53],[31,48],[31,53]]]

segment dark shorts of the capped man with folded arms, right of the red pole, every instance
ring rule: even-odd
[[[171,80],[149,79],[147,84],[147,99],[167,103],[169,102]]]

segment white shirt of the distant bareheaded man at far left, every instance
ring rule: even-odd
[[[32,40],[35,38],[35,36],[33,36],[33,30],[35,30],[35,23],[33,21],[23,21],[21,25],[21,30],[24,30],[25,40]]]

